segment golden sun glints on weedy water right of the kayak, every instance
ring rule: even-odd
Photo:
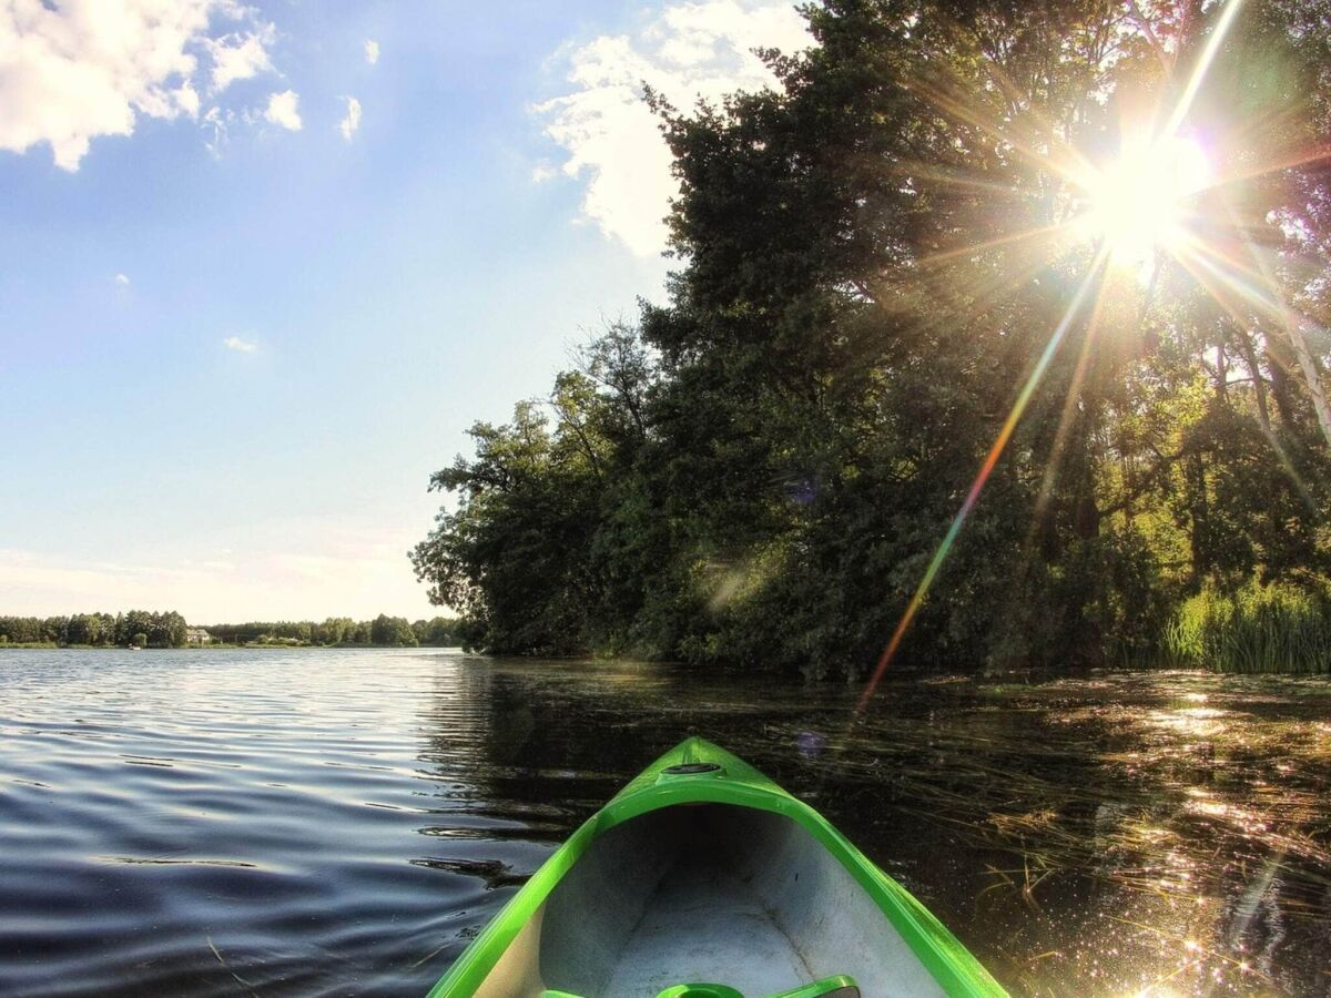
[[[977,917],[1022,925],[1024,942],[1049,922],[1061,939],[1017,969],[1033,993],[1284,993],[1290,941],[1308,945],[1331,925],[1331,725],[1274,716],[1270,684],[1179,673],[1151,679],[1161,695],[1143,699],[1135,683],[993,685],[976,724],[994,707],[1020,709],[1044,719],[1040,744],[1008,744],[990,727],[934,733],[940,768],[964,789],[905,774],[900,793],[992,850]],[[1298,696],[1314,693],[1327,688]],[[1091,743],[1098,770],[1046,778]],[[1070,896],[1085,938],[1073,945],[1054,926]]]

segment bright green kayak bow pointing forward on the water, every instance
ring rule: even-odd
[[[703,739],[579,828],[430,991],[930,994],[1004,990],[821,814]]]

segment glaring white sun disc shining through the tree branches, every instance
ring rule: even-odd
[[[1133,142],[1082,184],[1083,221],[1111,262],[1142,266],[1158,249],[1179,245],[1211,178],[1206,149],[1194,138]]]

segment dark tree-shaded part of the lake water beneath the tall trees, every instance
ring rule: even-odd
[[[476,659],[435,687],[421,758],[447,802],[421,830],[455,846],[437,864],[482,864],[486,884],[459,950],[697,733],[823,810],[1017,991],[1326,987],[1326,683],[908,676],[849,733],[857,691],[777,679]]]

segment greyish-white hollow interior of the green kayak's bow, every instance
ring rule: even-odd
[[[851,873],[781,814],[676,805],[595,840],[480,995],[654,998],[723,983],[745,998],[849,974],[869,995],[942,994]]]

